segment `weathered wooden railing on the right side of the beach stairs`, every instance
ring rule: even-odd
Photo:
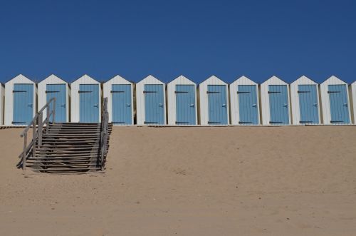
[[[108,98],[104,98],[103,111],[101,113],[101,130],[100,130],[100,166],[103,171],[105,168],[105,158],[108,153],[108,133],[109,133],[109,113]]]

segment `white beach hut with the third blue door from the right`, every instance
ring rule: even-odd
[[[261,84],[261,114],[263,125],[290,124],[288,83],[272,76]]]

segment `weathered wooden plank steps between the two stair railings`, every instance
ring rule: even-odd
[[[111,124],[108,130],[109,143]],[[38,148],[35,155],[31,150],[26,167],[46,173],[100,171],[100,131],[100,123],[50,124],[48,134],[42,134],[42,145],[36,140]],[[106,155],[104,158],[106,160]]]

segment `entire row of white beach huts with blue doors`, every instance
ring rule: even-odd
[[[69,84],[51,75],[36,84],[19,75],[1,85],[0,97],[1,125],[27,125],[53,97],[56,122],[99,123],[103,97],[114,125],[345,125],[356,113],[356,82],[335,76],[320,85],[305,76],[290,84],[273,76],[261,85],[211,76],[199,86],[179,76],[166,86],[153,76],[100,83],[84,75]]]

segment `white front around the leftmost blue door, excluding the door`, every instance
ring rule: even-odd
[[[37,87],[36,83],[31,81],[30,79],[26,78],[26,76],[19,75],[15,78],[12,78],[10,81],[5,83],[5,125],[13,125],[13,116],[14,116],[14,83],[31,83],[33,84],[33,117],[36,116],[37,111]]]

